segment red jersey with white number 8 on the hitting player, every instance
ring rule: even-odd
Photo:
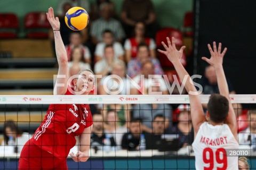
[[[67,91],[66,95],[71,93]],[[55,157],[67,157],[76,144],[75,136],[92,123],[89,104],[51,104],[33,142]]]

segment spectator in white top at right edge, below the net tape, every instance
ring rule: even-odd
[[[247,120],[250,125],[238,133],[238,142],[240,145],[249,145],[256,152],[256,110],[247,111]]]

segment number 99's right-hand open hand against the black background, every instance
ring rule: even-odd
[[[202,57],[204,61],[211,64],[213,67],[217,67],[222,65],[223,57],[227,52],[227,48],[224,48],[224,50],[221,53],[221,43],[219,43],[219,47],[217,50],[216,42],[213,42],[213,50],[210,44],[208,44],[209,51],[211,53],[211,58],[208,59],[205,56]]]

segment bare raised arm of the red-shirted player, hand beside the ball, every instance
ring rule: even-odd
[[[58,17],[54,18],[54,12],[52,7],[49,8],[46,15],[53,29],[55,51],[59,64],[58,78],[56,84],[54,85],[53,94],[61,95],[65,94],[67,91],[67,82],[69,78],[67,52],[60,36],[60,21]]]

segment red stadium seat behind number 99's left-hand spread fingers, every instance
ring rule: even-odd
[[[167,44],[166,37],[175,37],[175,44],[178,49],[183,45],[183,37],[181,31],[174,28],[163,28],[156,33],[156,46],[158,49],[164,50],[162,42],[165,42],[165,44]],[[173,67],[173,64],[169,61],[169,59],[167,59],[164,54],[158,52],[157,55],[162,67],[167,69]],[[185,53],[183,53],[183,55],[181,56],[181,63],[184,67],[187,64]]]

